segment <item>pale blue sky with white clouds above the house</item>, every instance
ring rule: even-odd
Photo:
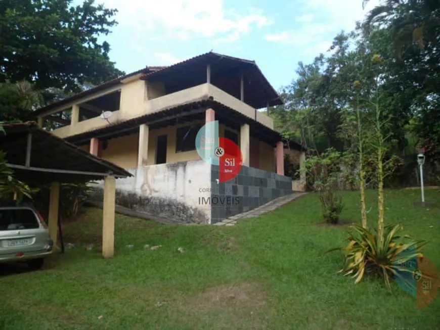
[[[110,59],[125,72],[177,63],[213,50],[256,61],[279,89],[299,61],[326,53],[333,37],[352,30],[362,0],[97,0],[118,9],[105,36]],[[75,3],[80,2],[75,0]]]

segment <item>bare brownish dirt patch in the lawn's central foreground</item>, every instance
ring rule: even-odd
[[[210,288],[184,299],[180,308],[201,322],[214,322],[217,328],[265,329],[265,300],[259,284],[245,282]]]

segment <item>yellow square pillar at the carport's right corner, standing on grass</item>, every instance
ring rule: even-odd
[[[115,198],[116,179],[106,176],[104,179],[104,201],[102,207],[102,255],[111,258],[115,250]]]

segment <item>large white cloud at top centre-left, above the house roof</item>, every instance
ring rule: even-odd
[[[144,38],[160,33],[183,40],[199,36],[225,39],[229,36],[235,41],[252,28],[272,24],[258,10],[237,13],[225,8],[223,0],[101,1],[106,7],[118,9],[116,20],[119,26],[130,28],[132,35]]]

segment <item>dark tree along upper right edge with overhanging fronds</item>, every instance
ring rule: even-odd
[[[388,45],[381,44],[380,48],[391,46],[393,50],[388,69],[394,70],[387,79],[388,86],[393,86],[393,103],[400,111],[412,109],[418,123],[414,133],[430,145],[427,149],[438,149],[440,2],[384,0],[370,11],[363,27],[368,37],[388,34]]]

